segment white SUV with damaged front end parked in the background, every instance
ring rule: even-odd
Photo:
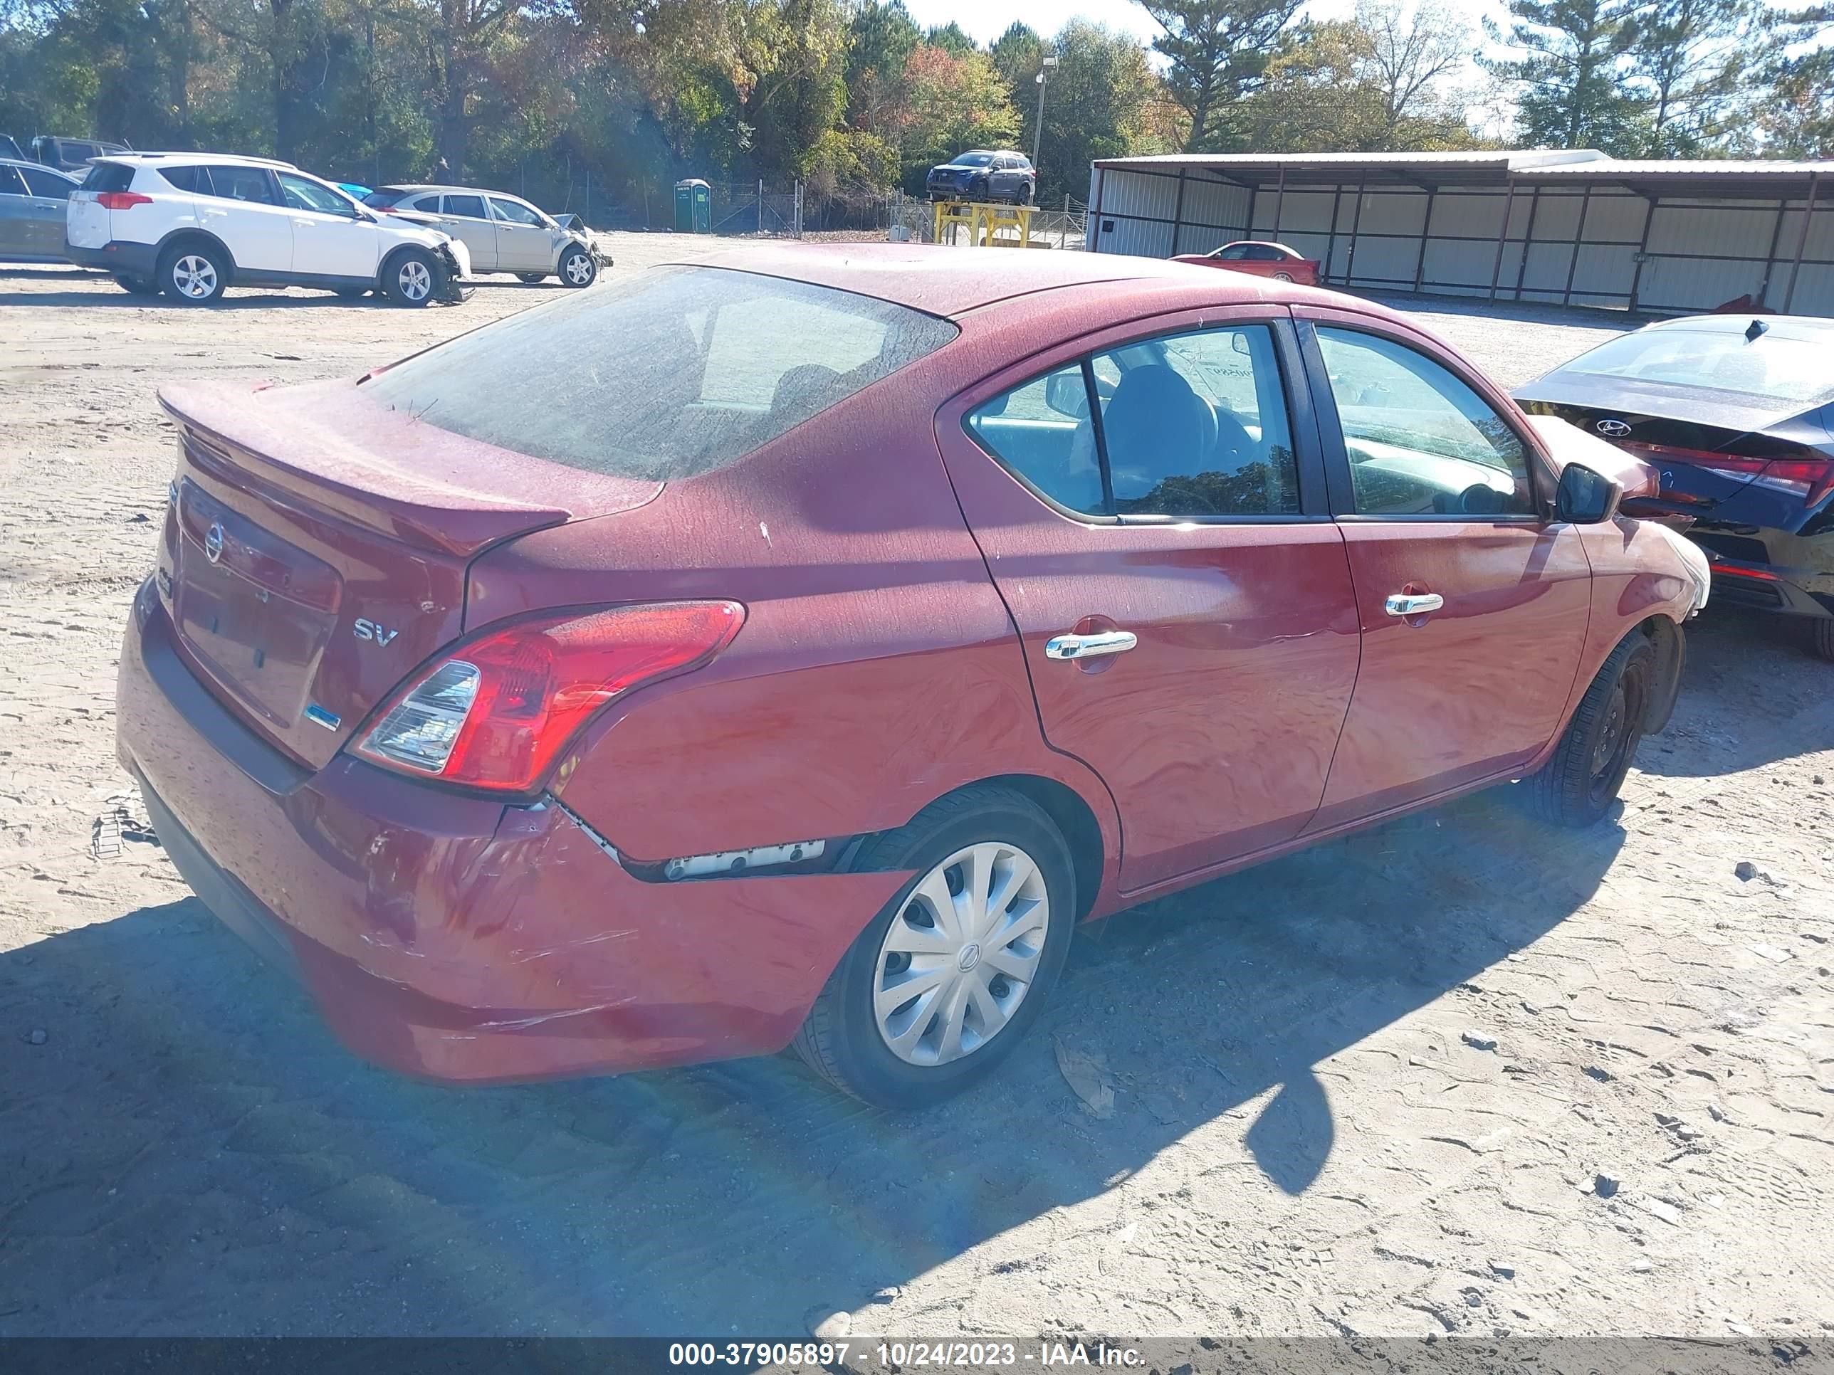
[[[468,297],[471,275],[451,235],[391,224],[292,163],[215,152],[92,160],[70,192],[64,255],[185,304],[227,286],[317,286],[425,306]]]

